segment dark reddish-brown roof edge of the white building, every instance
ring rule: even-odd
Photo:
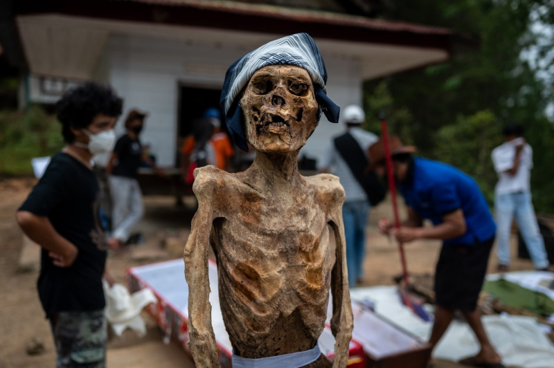
[[[301,11],[231,1],[197,0],[21,0],[17,15],[58,13],[79,17],[186,25],[247,32],[292,34],[418,48],[439,48],[452,55],[458,44],[474,48],[473,37],[433,28],[328,12]]]

